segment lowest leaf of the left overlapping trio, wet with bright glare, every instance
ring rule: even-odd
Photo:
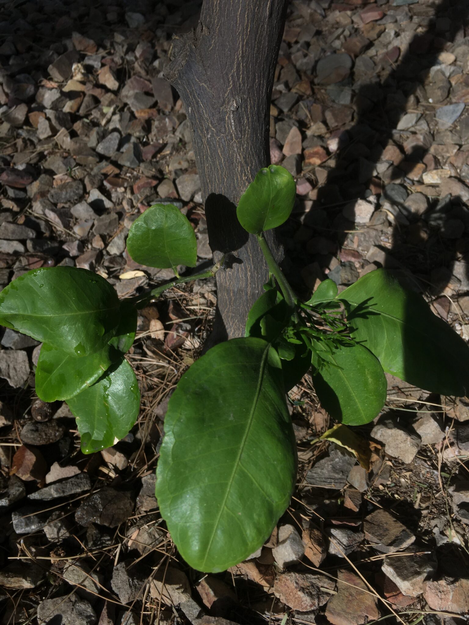
[[[123,358],[67,404],[76,418],[84,454],[112,447],[138,417],[140,391],[132,367]]]

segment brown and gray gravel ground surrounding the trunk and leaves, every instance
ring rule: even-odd
[[[0,2],[0,287],[85,267],[119,296],[172,277],[126,252],[136,217],[176,204],[209,264],[188,122],[164,81],[198,2]],[[281,228],[298,292],[385,266],[469,338],[469,4],[293,1],[271,104],[271,161],[297,181]],[[469,611],[469,403],[388,376],[357,429],[366,472],[318,435],[310,377],[290,407],[300,471],[260,553],[188,569],[154,499],[168,397],[211,329],[213,281],[139,314],[129,361],[142,409],[84,456],[61,402],[34,395],[40,346],[0,330],[3,623],[386,622],[458,625]],[[311,444],[313,443],[313,444]]]

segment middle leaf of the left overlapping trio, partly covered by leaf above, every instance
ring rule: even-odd
[[[111,347],[89,356],[73,356],[43,343],[36,368],[36,393],[43,401],[69,399],[83,391],[111,366]]]

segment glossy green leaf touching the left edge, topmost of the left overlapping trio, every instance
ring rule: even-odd
[[[33,269],[0,293],[0,324],[75,356],[101,351],[118,322],[116,291],[87,269]]]

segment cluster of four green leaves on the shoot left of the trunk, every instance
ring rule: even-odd
[[[176,206],[144,212],[128,236],[136,262],[168,268],[194,266],[197,242]],[[148,294],[148,300],[151,294]],[[41,341],[36,393],[47,402],[67,402],[81,436],[81,449],[111,447],[134,425],[140,392],[124,354],[145,297],[119,301],[103,277],[76,267],[34,269],[0,293],[0,324]]]

